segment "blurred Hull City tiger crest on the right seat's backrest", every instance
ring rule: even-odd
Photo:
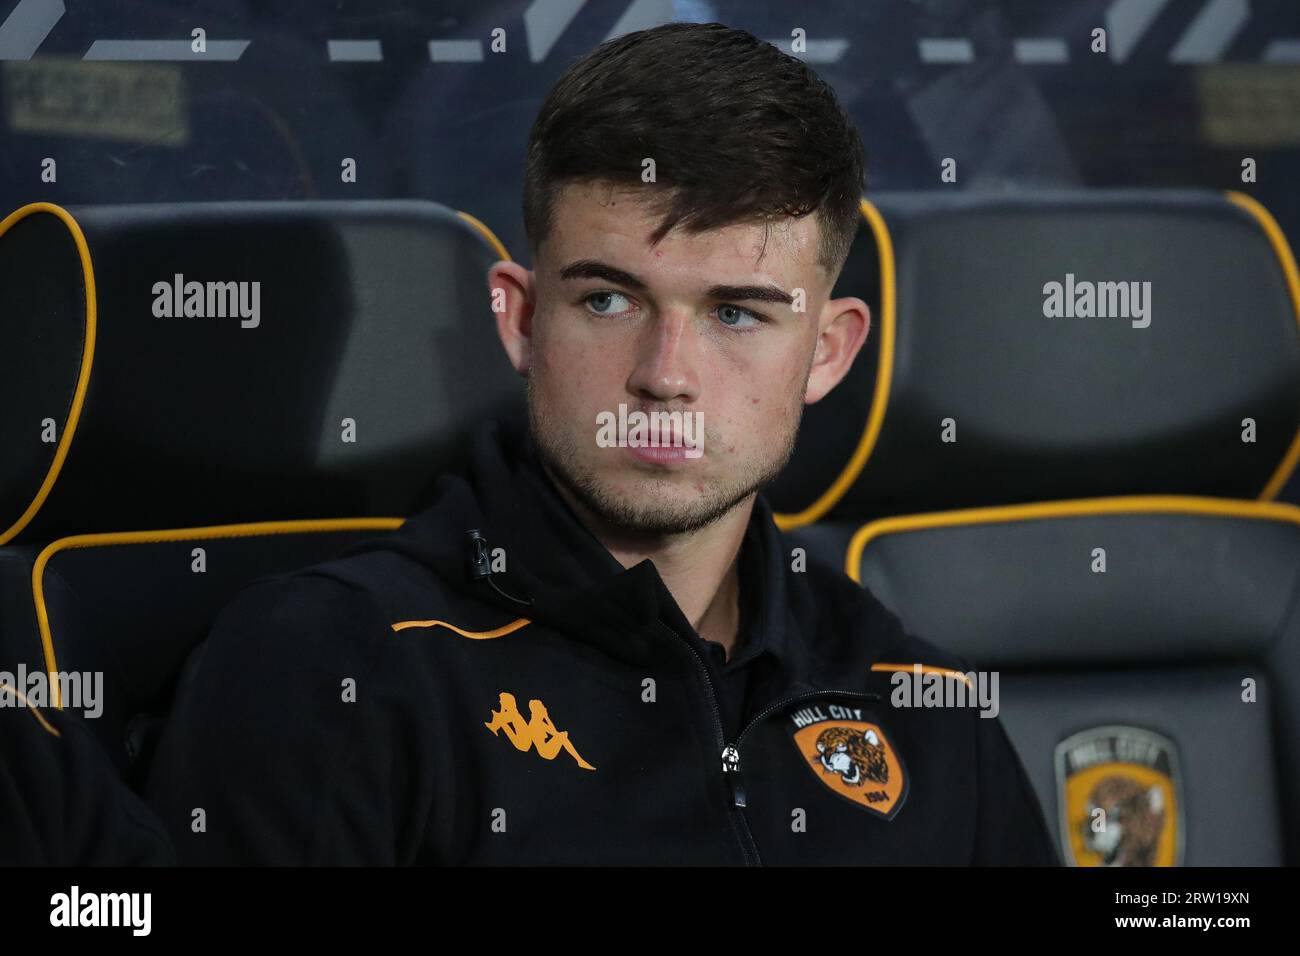
[[[1071,866],[1180,866],[1183,792],[1174,741],[1093,727],[1056,749],[1061,849]]]

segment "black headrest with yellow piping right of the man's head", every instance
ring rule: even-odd
[[[887,194],[836,295],[872,329],[806,410],[784,527],[1105,494],[1271,498],[1300,278],[1240,194]]]

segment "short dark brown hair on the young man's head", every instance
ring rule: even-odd
[[[642,183],[653,157],[655,182]],[[819,213],[818,263],[837,276],[858,228],[866,159],[829,85],[798,59],[722,23],[666,23],[606,40],[551,87],[524,165],[536,258],[571,182],[659,190],[651,241]]]

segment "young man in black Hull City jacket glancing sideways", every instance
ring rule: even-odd
[[[829,298],[862,179],[829,87],[748,33],[569,68],[534,268],[489,274],[528,419],[225,609],[148,792],[182,862],[1057,861],[998,721],[894,710],[872,670],[966,663],[801,570],[758,494],[868,332]],[[611,444],[633,412],[679,414],[666,446]]]

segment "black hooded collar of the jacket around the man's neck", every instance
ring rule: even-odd
[[[493,580],[508,594],[532,600],[532,607],[471,578],[465,550],[471,528],[480,529],[489,550],[504,549],[506,570]],[[632,632],[644,632],[655,618],[698,640],[654,562],[624,568],[578,520],[542,470],[523,415],[480,427],[465,464],[445,475],[433,505],[384,546],[420,559],[451,587],[517,617],[563,626],[601,644],[610,644],[611,636],[623,640],[632,656],[641,649]],[[754,604],[736,659],[762,656],[788,662],[800,646],[792,633],[797,624],[788,609],[783,546],[762,494],[746,527],[741,562],[741,600]]]

